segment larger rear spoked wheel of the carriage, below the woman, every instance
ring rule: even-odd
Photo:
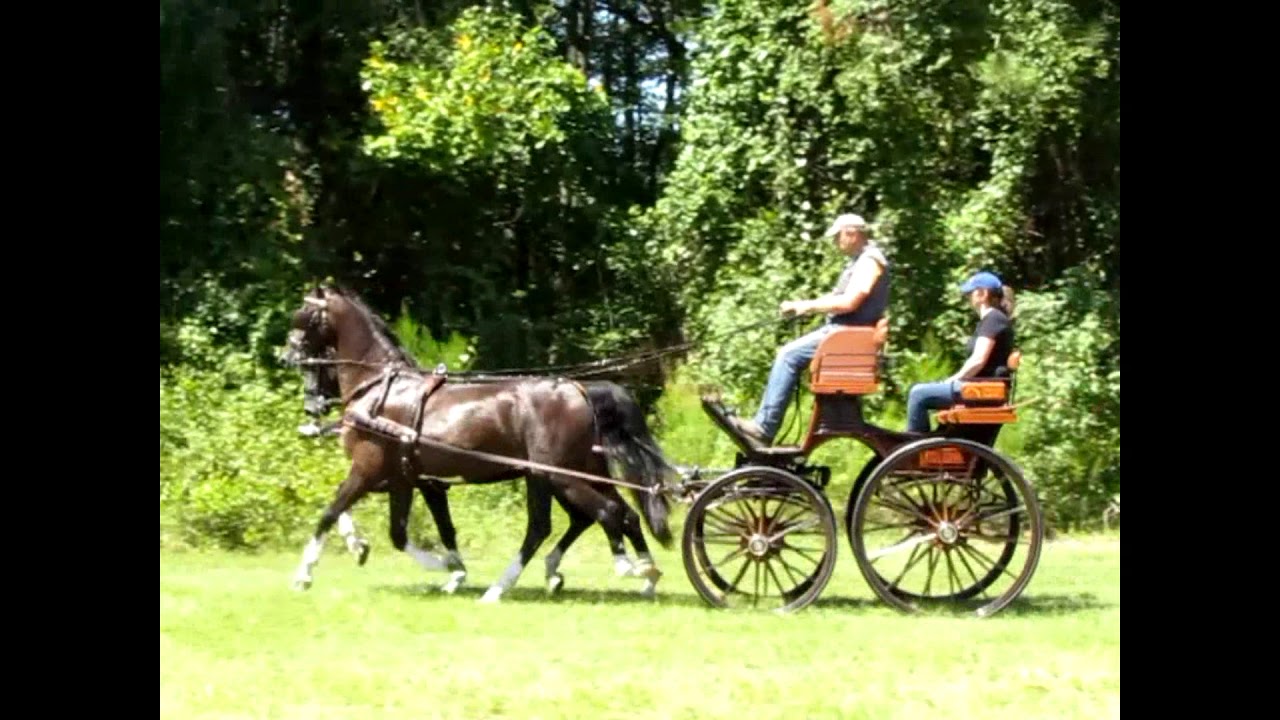
[[[884,459],[849,520],[858,568],[905,611],[946,603],[989,616],[1027,588],[1044,525],[1036,492],[987,446],[929,438]]]

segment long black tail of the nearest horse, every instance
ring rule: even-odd
[[[625,479],[660,488],[671,464],[649,433],[644,413],[635,398],[608,380],[589,382],[585,389],[595,413],[595,427],[604,450],[608,457],[622,466]],[[643,510],[649,532],[663,547],[671,547],[671,527],[667,524],[671,503],[667,496],[660,492],[628,489]]]

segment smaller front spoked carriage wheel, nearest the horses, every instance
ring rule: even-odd
[[[776,468],[742,468],[689,509],[685,571],[712,606],[794,612],[831,580],[836,536],[835,512],[817,488]]]

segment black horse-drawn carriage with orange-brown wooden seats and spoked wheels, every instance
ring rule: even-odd
[[[854,482],[844,529],[881,600],[905,611],[946,603],[988,616],[1025,589],[1039,561],[1042,515],[1030,484],[993,450],[1001,427],[1018,419],[1020,354],[1010,357],[1009,377],[964,383],[961,405],[938,411],[938,430],[902,433],[863,418],[864,396],[881,387],[886,338],[883,322],[823,338],[809,366],[814,410],[799,446],[758,446],[717,398],[703,398],[740,450],[732,470],[709,479],[695,471],[686,489],[685,570],[708,603],[758,606],[772,600],[771,584],[776,610],[819,597],[835,569],[838,530],[824,492],[831,469],[806,457],[837,438],[873,454]],[[910,583],[922,570],[923,582]]]

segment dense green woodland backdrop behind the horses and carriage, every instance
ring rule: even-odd
[[[1098,512],[1119,488],[1119,5],[637,12],[161,3],[175,527],[268,542],[301,532],[291,518],[310,524],[340,480],[332,443],[270,424],[300,414],[275,354],[316,278],[356,287],[428,366],[707,340],[678,382],[657,364],[626,378],[646,404],[676,393],[666,437],[700,456],[719,439],[676,388],[758,401],[773,354],[813,323],[735,331],[831,288],[845,260],[817,234],[849,210],[878,224],[895,283],[870,416],[901,425],[910,383],[955,370],[974,325],[956,284],[995,269],[1019,291],[1021,392],[1043,397],[1001,443],[1060,524]],[[326,479],[282,495],[291,462]]]

